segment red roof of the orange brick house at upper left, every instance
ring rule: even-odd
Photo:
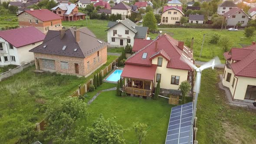
[[[51,12],[48,9],[42,9],[42,10],[25,10],[22,13],[29,13],[32,16],[35,16],[36,18],[38,18],[39,20],[42,20],[43,22],[45,21],[50,21],[50,20],[59,20],[61,19],[60,16],[58,16],[57,14]],[[21,13],[20,13],[21,14]],[[19,14],[19,15],[20,15]]]

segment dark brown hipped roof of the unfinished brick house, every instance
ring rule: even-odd
[[[78,43],[76,43],[75,29],[73,28],[67,29],[62,39],[60,39],[59,31],[49,30],[44,42],[31,49],[30,52],[85,58],[108,45],[108,43],[91,36],[93,33],[84,33],[89,29],[82,28],[78,30],[80,31],[80,41]],[[46,48],[43,48],[44,45],[47,45]],[[62,50],[63,46],[66,46],[65,50]],[[77,49],[77,51],[75,52],[74,49]]]

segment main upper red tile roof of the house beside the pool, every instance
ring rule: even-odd
[[[135,41],[138,42],[138,41]],[[158,50],[155,51],[156,42],[158,43]],[[136,45],[136,43],[135,43]],[[184,46],[184,49],[181,50],[178,48],[178,41],[173,39],[168,35],[158,36],[152,43],[148,46],[145,46],[143,49],[136,52],[133,56],[131,56],[126,64],[135,64],[135,65],[152,65],[152,61],[150,59],[151,56],[154,56],[157,52],[160,52],[162,49],[167,53],[167,55],[171,58],[171,62],[167,63],[167,68],[173,69],[186,69],[192,70],[192,68],[187,65],[185,62],[181,61],[181,56],[184,56],[188,59],[193,58],[193,54],[190,49]],[[142,59],[143,53],[148,53],[146,59]]]

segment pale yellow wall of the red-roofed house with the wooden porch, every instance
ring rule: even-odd
[[[160,58],[163,58],[162,56],[158,56]],[[152,64],[157,65],[158,64],[158,57],[152,59]],[[161,74],[161,83],[160,88],[164,89],[178,89],[179,85],[183,81],[187,81],[187,70],[183,69],[171,69],[167,68],[167,60],[163,58],[162,66],[158,66],[156,70],[156,74]],[[180,76],[179,85],[173,85],[171,84],[171,76]],[[155,75],[156,79],[156,75]],[[157,86],[157,82],[155,82],[155,87]]]

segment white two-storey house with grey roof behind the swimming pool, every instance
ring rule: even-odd
[[[133,46],[135,39],[146,39],[148,27],[137,26],[129,19],[119,22],[109,22],[108,43],[111,46],[126,46],[127,43]]]

